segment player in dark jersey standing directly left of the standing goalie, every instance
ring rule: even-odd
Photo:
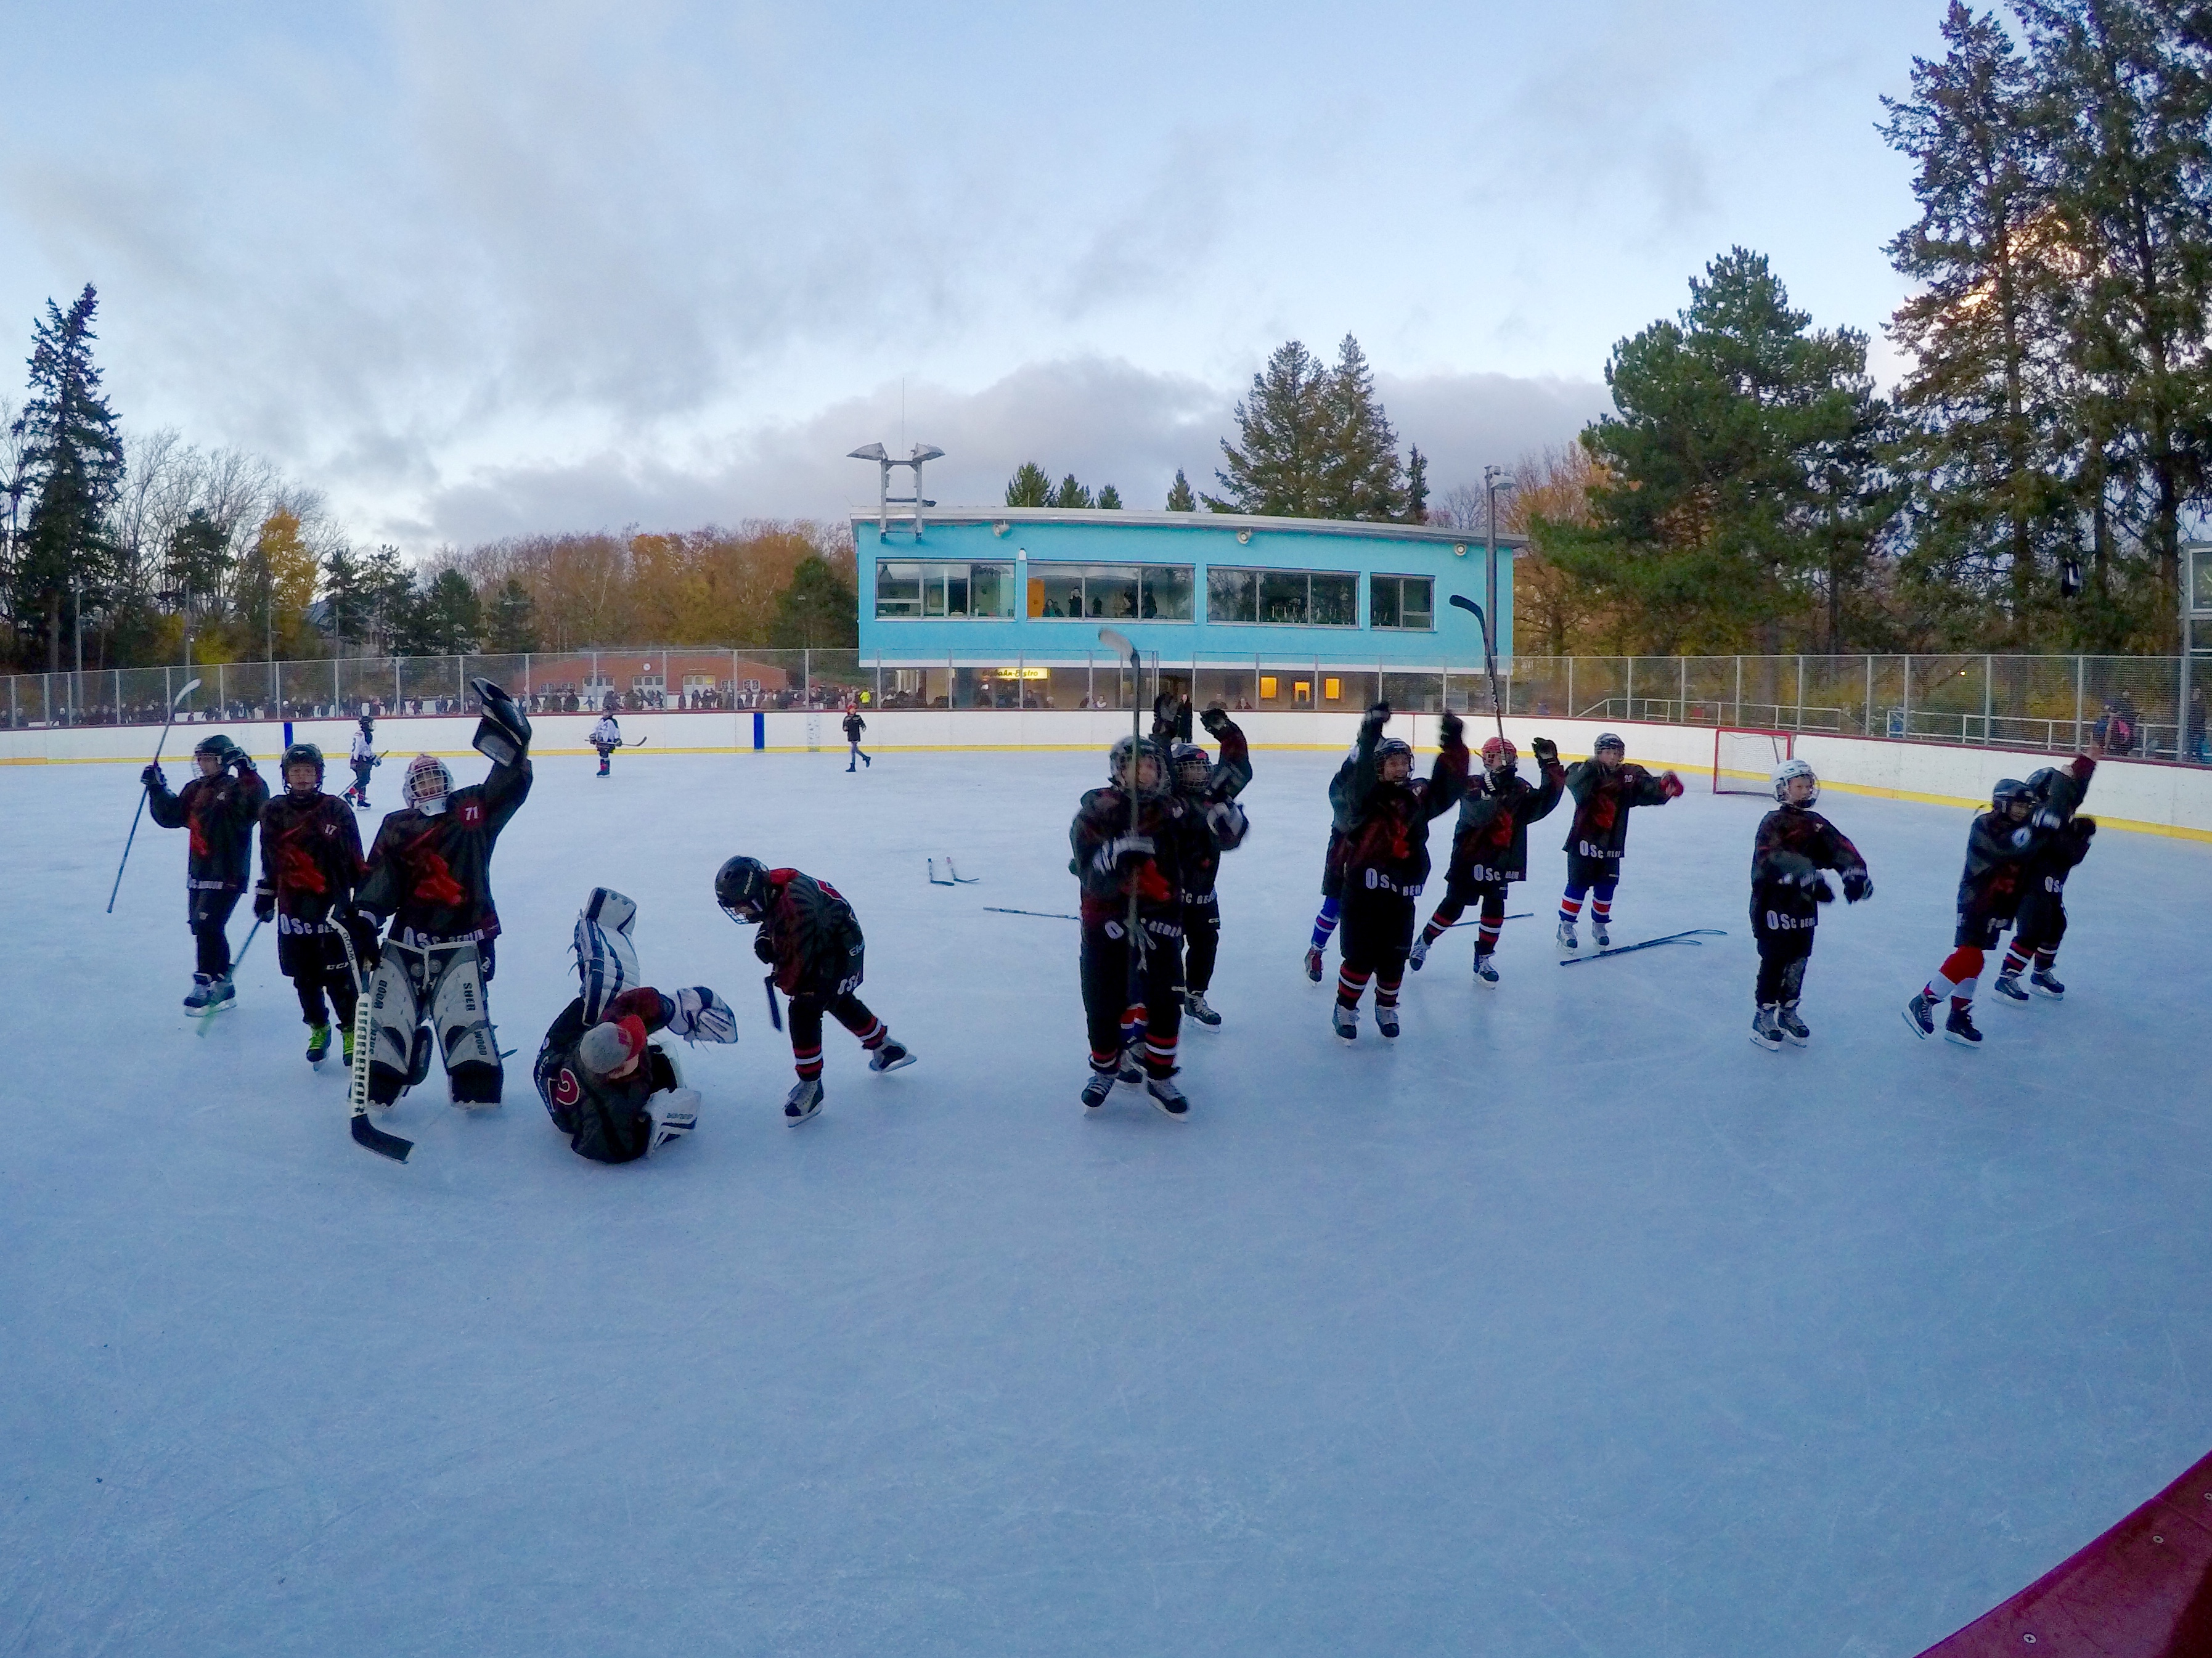
[[[361,829],[352,809],[323,794],[323,749],[294,743],[283,752],[283,794],[261,807],[261,880],[254,886],[254,920],[276,922],[276,966],[299,990],[299,1015],[307,1021],[307,1063],[321,1066],[330,1052],[330,1017],[323,997],[345,1032],[345,1059],[354,1059],[354,1004],[358,986],[345,946],[332,933],[354,915],[361,882]]]

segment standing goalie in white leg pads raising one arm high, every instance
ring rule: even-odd
[[[491,758],[489,776],[456,789],[445,760],[431,754],[409,760],[407,805],[376,831],[367,875],[354,895],[372,924],[392,922],[383,948],[369,935],[363,951],[363,964],[376,968],[369,982],[374,1105],[389,1105],[429,1074],[431,1030],[456,1105],[498,1105],[507,1081],[487,997],[500,935],[491,851],[531,791],[531,721],[491,681],[473,685],[484,707],[476,747]],[[367,928],[356,928],[356,944],[363,933]]]

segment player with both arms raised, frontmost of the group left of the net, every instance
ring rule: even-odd
[[[1336,970],[1336,1035],[1360,1035],[1360,993],[1376,984],[1376,1030],[1398,1035],[1398,986],[1413,946],[1413,904],[1429,882],[1429,825],[1467,794],[1467,743],[1460,716],[1438,721],[1442,743],[1427,783],[1413,778],[1413,749],[1385,738],[1389,703],[1360,718],[1360,736],[1329,783],[1343,864],[1345,942]]]

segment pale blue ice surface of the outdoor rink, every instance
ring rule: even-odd
[[[1256,765],[1177,1125],[1084,1121],[1077,928],[984,909],[1075,909],[1102,756],[549,758],[493,864],[507,1105],[434,1074],[405,1167],[270,937],[192,1035],[181,833],[102,915],[128,767],[0,772],[0,1651],[1905,1656],[2212,1446],[2212,847],[2099,836],[2068,999],[1984,979],[1962,1052],[1900,1006],[1966,814],[1829,794],[1876,898],[1763,1052],[1765,802],[1637,811],[1615,940],[1728,937],[1575,968],[1562,809],[1504,984],[1451,933],[1343,1048],[1334,758]],[[920,1054],[832,1026],[799,1130],[734,851],[852,898]],[[745,1032],[628,1167],[529,1083],[595,882]]]

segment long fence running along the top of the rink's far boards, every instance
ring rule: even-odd
[[[1411,712],[1489,712],[1484,672],[1396,670],[1329,661],[1148,654],[1133,685],[1121,661],[1055,657],[918,661],[858,650],[635,650],[526,657],[354,657],[197,663],[7,676],[9,727],[184,721],[378,718],[469,714],[471,679],[491,679],[531,712],[1104,707],[1161,692],[1199,707],[1356,712],[1383,699]],[[197,683],[192,683],[197,681]],[[190,685],[190,690],[186,690]],[[1754,725],[1929,743],[2070,752],[2101,738],[2112,754],[2212,760],[2205,696],[2212,654],[2183,688],[2174,657],[1515,657],[1498,665],[1509,714]]]

